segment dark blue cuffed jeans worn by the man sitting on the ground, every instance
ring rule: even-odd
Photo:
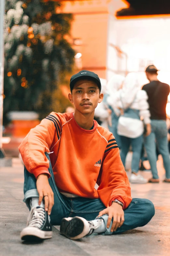
[[[45,153],[50,161],[49,155]],[[54,193],[54,205],[50,214],[51,224],[60,225],[61,220],[65,217],[83,217],[86,220],[94,220],[100,211],[106,209],[105,205],[100,199],[90,199],[84,197],[68,198],[62,195],[55,184],[54,175],[50,163],[49,172],[51,177],[49,183]],[[24,199],[30,209],[29,201],[31,197],[39,197],[36,189],[36,179],[33,174],[30,174],[24,168]],[[111,232],[111,225],[106,228],[104,234],[111,235],[119,234],[126,230],[135,229],[137,227],[145,226],[155,214],[155,208],[148,199],[134,198],[129,207],[124,210],[124,223],[115,232]],[[107,223],[108,215],[103,215],[99,218]]]

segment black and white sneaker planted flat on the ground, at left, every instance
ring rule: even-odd
[[[33,207],[28,216],[27,226],[21,231],[22,240],[47,239],[52,237],[50,216],[44,208]]]

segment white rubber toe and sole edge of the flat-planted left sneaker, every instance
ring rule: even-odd
[[[27,240],[30,237],[37,237],[40,239],[48,239],[52,237],[52,231],[43,231],[34,227],[27,227],[21,231],[21,239]]]

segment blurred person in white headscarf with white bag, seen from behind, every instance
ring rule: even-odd
[[[117,94],[115,103],[121,112],[121,120],[118,122],[118,134],[121,135],[120,157],[125,166],[125,160],[130,146],[132,146],[133,157],[131,163],[132,183],[147,183],[142,175],[138,174],[141,157],[144,124],[146,125],[146,136],[151,132],[148,96],[140,89],[139,81],[135,73],[129,73],[123,83],[122,89]],[[122,118],[123,117],[123,118]],[[143,122],[140,120],[143,118]]]

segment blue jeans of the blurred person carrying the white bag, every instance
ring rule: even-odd
[[[129,151],[130,145],[132,145],[133,156],[132,156],[131,170],[132,172],[137,173],[139,170],[139,162],[141,158],[143,135],[137,138],[128,138],[125,136],[120,136],[120,138],[121,138],[121,145],[122,145],[121,152],[120,152],[121,161],[125,166],[126,156]]]

